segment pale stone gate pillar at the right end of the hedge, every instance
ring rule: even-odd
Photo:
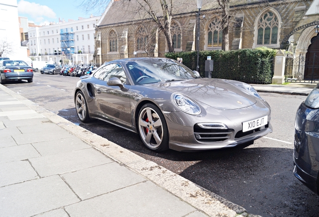
[[[275,56],[275,68],[272,77],[272,84],[283,84],[285,82],[285,55],[281,50],[278,50]]]

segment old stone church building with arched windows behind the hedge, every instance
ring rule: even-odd
[[[96,25],[95,62],[120,58],[164,57],[165,35],[151,21],[141,0],[112,0]],[[169,2],[169,1],[168,1]],[[159,20],[163,10],[151,1]],[[196,51],[197,1],[175,0],[171,33],[175,52]],[[230,0],[229,50],[268,47],[286,49],[292,57],[306,58],[317,51],[319,0]],[[315,40],[317,43],[314,43]],[[311,44],[317,44],[312,46]],[[217,50],[222,45],[221,10],[217,1],[203,0],[200,14],[199,50]],[[306,63],[303,63],[303,65]],[[318,63],[319,65],[319,63]],[[319,73],[318,73],[319,74]]]

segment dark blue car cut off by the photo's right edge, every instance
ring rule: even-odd
[[[319,195],[319,84],[297,110],[293,174]]]

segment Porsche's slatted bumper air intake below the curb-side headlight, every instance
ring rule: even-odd
[[[197,124],[194,125],[194,135],[197,141],[200,142],[220,142],[230,138],[231,129],[204,129]]]

